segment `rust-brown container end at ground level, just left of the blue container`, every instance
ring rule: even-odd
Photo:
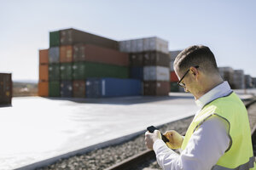
[[[74,80],[73,81],[73,97],[84,98],[85,97],[85,81]]]

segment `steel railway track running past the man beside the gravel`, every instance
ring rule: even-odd
[[[248,109],[250,105],[253,105],[256,102],[256,98],[253,98],[247,102],[245,102],[246,108]],[[252,128],[252,137],[253,139],[253,146],[255,146],[255,153],[256,153],[256,125]],[[253,148],[254,149],[254,148]],[[143,169],[138,168],[139,165],[143,165],[145,161],[152,161],[155,159],[155,154],[153,150],[145,150],[136,156],[131,156],[130,158],[126,159],[125,161],[121,161],[112,167],[108,167],[105,170],[135,170],[135,169]]]

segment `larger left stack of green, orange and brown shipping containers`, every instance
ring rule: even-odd
[[[117,50],[116,41],[84,31],[67,29],[49,32],[49,46],[48,53],[46,50],[39,50],[40,59],[45,58],[46,54],[49,59],[49,62],[40,62],[39,65],[38,95],[40,96],[83,98],[89,93],[86,91],[85,81],[91,77],[114,77],[116,79],[107,79],[113,88],[123,85],[122,81],[126,80],[127,83],[133,81],[127,79],[129,56]],[[43,75],[47,78],[43,78]],[[122,81],[118,81],[118,78]],[[138,89],[137,91],[134,89],[135,92],[140,93],[130,92],[130,95],[141,94],[142,86],[136,88]],[[122,95],[124,93],[119,92],[119,96]],[[90,95],[92,96],[96,95]],[[108,94],[108,97],[111,97],[111,94]]]

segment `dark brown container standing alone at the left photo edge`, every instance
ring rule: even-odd
[[[10,105],[13,96],[12,75],[0,73],[0,105]]]

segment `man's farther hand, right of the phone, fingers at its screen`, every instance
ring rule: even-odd
[[[164,133],[167,139],[169,139],[170,142],[167,142],[167,146],[171,148],[172,150],[177,150],[181,148],[183,144],[183,136],[177,133],[174,130],[167,131]]]

